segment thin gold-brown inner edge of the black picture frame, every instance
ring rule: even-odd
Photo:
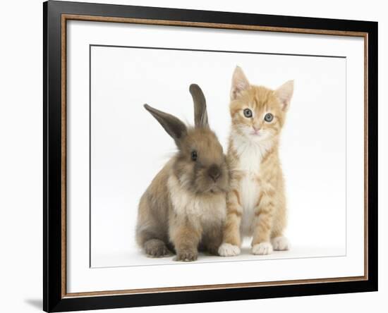
[[[104,290],[82,293],[66,292],[66,25],[67,20],[85,20],[108,23],[133,23],[143,25],[164,25],[181,27],[204,27],[229,30],[256,30],[264,32],[288,32],[313,35],[334,35],[363,37],[364,39],[364,276],[297,279],[289,281],[268,281],[257,283],[228,283],[218,285],[162,287],[129,290]],[[269,27],[260,25],[236,25],[219,23],[186,22],[180,20],[151,20],[142,18],[116,18],[107,16],[87,16],[77,14],[61,15],[61,297],[92,297],[102,295],[133,295],[140,293],[167,293],[192,290],[212,290],[230,288],[253,288],[264,286],[286,286],[293,284],[334,283],[368,280],[368,32],[344,30],[315,30],[293,27]]]

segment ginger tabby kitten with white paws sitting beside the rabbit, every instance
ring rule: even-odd
[[[289,249],[283,235],[286,199],[279,135],[292,94],[292,80],[277,90],[269,90],[250,85],[240,67],[234,70],[227,154],[231,186],[219,255],[239,254],[244,236],[253,238],[253,254]]]

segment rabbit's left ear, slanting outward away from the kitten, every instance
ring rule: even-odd
[[[152,116],[154,116],[154,118],[157,119],[157,121],[160,123],[160,125],[162,125],[164,130],[166,130],[166,132],[171,137],[173,137],[176,142],[176,145],[179,146],[179,141],[187,133],[186,125],[183,124],[183,122],[179,118],[176,118],[175,116],[172,116],[169,113],[164,113],[162,111],[154,109],[148,104],[145,104],[144,107],[152,114]]]

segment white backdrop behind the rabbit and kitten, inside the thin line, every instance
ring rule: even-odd
[[[123,47],[92,47],[91,59],[92,266],[171,262],[148,259],[135,245],[140,196],[176,150],[143,103],[193,124],[188,86],[197,82],[226,152],[237,64],[252,83],[275,89],[295,80],[281,140],[293,248],[199,261],[346,254],[346,59]]]

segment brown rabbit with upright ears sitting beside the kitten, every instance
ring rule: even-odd
[[[217,136],[207,122],[205,97],[190,85],[195,127],[145,104],[173,137],[178,152],[140,199],[136,240],[150,257],[176,252],[176,261],[195,261],[198,249],[218,254],[226,216],[229,174]]]

